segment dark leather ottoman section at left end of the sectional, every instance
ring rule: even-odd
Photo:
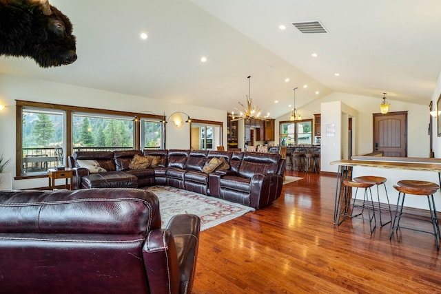
[[[124,171],[107,171],[81,178],[83,188],[138,188],[138,178]]]

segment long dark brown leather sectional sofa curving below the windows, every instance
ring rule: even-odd
[[[134,156],[157,156],[154,168],[130,169]],[[212,158],[225,158],[229,169],[203,172]],[[76,160],[96,160],[106,172],[90,174]],[[69,157],[74,189],[167,185],[261,209],[280,197],[285,159],[279,154],[207,150],[76,151]]]

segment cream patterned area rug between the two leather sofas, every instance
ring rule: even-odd
[[[174,187],[154,186],[146,188],[159,198],[161,227],[165,228],[172,216],[181,213],[196,214],[201,218],[201,231],[217,226],[238,216],[254,211],[254,208],[222,199],[189,192]]]

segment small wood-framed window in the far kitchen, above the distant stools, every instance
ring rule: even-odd
[[[312,120],[280,122],[280,145],[311,145]]]

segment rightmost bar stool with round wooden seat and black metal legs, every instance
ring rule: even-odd
[[[430,233],[431,235],[435,236],[436,249],[440,250],[440,240],[441,240],[440,224],[438,223],[438,213],[436,212],[435,200],[433,199],[433,194],[436,193],[436,191],[438,191],[440,186],[438,184],[435,184],[434,182],[427,182],[422,180],[400,180],[397,184],[399,185],[393,186],[393,188],[395,188],[399,193],[398,193],[396,214],[395,214],[395,218],[393,218],[393,224],[392,224],[391,235],[389,240],[392,239],[393,231],[398,232],[398,229],[400,228],[409,229],[413,231],[420,231],[423,233]],[[406,194],[411,194],[416,196],[427,196],[427,202],[429,202],[429,211],[430,211],[431,220],[424,220],[424,221],[431,222],[433,227],[433,233],[430,231],[422,231],[420,229],[413,229],[409,227],[400,226],[401,218],[422,220],[422,218],[417,218],[415,214],[411,214],[411,213],[406,213],[407,215],[403,216],[402,209],[404,206],[404,198]],[[400,210],[400,213],[398,213],[398,209]]]

